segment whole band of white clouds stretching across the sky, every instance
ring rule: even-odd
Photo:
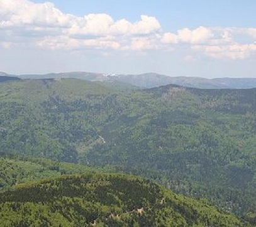
[[[0,47],[15,46],[76,51],[187,48],[211,58],[243,60],[256,53],[256,28],[199,26],[163,31],[153,16],[142,15],[131,23],[127,19],[114,20],[108,14],[65,14],[48,2],[0,0]]]

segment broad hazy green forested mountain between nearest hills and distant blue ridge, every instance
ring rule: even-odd
[[[255,97],[256,89],[122,92],[74,79],[4,83],[0,150],[150,177],[253,223]]]

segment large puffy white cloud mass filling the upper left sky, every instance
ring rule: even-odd
[[[94,48],[125,49],[136,46],[133,40],[142,35],[159,33],[160,24],[152,16],[142,15],[136,23],[126,19],[114,21],[108,14],[88,14],[83,17],[64,14],[52,3],[35,4],[28,0],[0,1],[0,31],[10,41],[19,38],[40,48]],[[122,36],[122,40],[119,39]],[[33,39],[32,39],[33,37]],[[3,42],[1,40],[0,42]],[[4,45],[2,43],[2,46]],[[148,45],[137,45],[148,48]],[[134,48],[136,50],[136,48]]]

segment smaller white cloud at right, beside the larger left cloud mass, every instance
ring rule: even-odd
[[[256,53],[255,41],[244,43],[241,36],[256,38],[256,28],[204,28],[179,29],[177,33],[164,33],[162,43],[191,45],[191,50],[212,58],[243,60]],[[240,40],[240,43],[239,43]],[[185,58],[187,60],[187,57]]]

